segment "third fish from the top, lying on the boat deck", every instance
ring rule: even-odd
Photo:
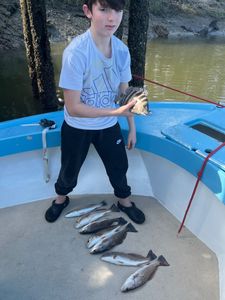
[[[105,228],[108,228],[111,225],[123,225],[126,224],[127,221],[122,218],[114,218],[114,219],[105,219],[102,221],[93,221],[85,226],[83,226],[80,230],[79,233],[81,234],[86,234],[86,233],[96,233],[100,230],[103,230]]]

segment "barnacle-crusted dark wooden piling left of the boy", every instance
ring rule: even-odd
[[[54,69],[47,35],[45,0],[20,0],[33,95],[45,111],[57,109]]]

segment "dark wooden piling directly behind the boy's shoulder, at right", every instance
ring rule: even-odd
[[[133,75],[145,76],[145,55],[149,24],[149,0],[130,0],[128,47]],[[132,86],[144,85],[144,80],[133,78]]]

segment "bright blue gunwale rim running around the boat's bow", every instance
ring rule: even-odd
[[[135,116],[138,149],[154,153],[184,168],[195,177],[211,151],[225,141],[225,110],[213,104],[152,102],[148,116]],[[56,123],[47,132],[48,147],[60,145],[63,111],[0,123],[0,156],[42,148],[46,118]],[[124,137],[128,125],[119,118]],[[225,147],[208,161],[201,178],[225,204]]]

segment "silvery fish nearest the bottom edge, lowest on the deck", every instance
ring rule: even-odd
[[[153,278],[159,266],[169,266],[168,262],[162,255],[131,274],[122,285],[121,292],[128,292],[144,285],[147,281]]]

